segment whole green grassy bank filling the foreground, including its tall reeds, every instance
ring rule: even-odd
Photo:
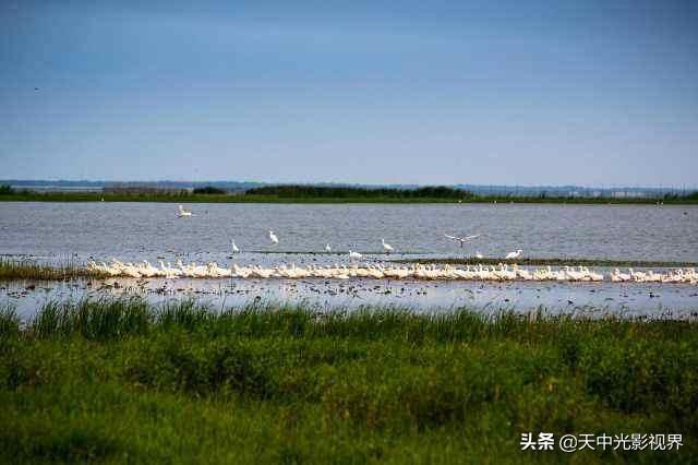
[[[193,302],[0,312],[0,462],[690,463],[695,322]],[[683,433],[520,451],[522,432]]]

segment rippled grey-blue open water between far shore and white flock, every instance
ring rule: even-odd
[[[178,218],[163,203],[0,203],[0,254],[39,259],[285,260],[250,251],[398,253],[698,261],[698,207],[530,204],[192,204]],[[268,230],[280,239],[268,240]],[[444,237],[481,234],[465,249]],[[337,257],[313,257],[337,261]],[[297,257],[301,261],[306,257]]]

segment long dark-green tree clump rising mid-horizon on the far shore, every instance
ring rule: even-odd
[[[323,199],[467,199],[472,192],[446,186],[417,189],[325,187],[325,186],[264,186],[248,189],[246,195],[274,195],[277,198],[323,198]]]

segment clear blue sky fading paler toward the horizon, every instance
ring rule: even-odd
[[[0,1],[0,178],[698,184],[695,1]]]

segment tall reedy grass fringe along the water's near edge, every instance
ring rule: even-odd
[[[7,307],[0,315],[14,321]],[[4,317],[7,315],[7,317]],[[400,341],[419,344],[472,343],[506,338],[526,343],[609,337],[661,337],[678,341],[698,329],[694,321],[619,319],[613,315],[589,319],[575,314],[544,314],[542,311],[515,313],[455,311],[417,313],[399,307],[337,308],[323,311],[303,305],[252,302],[222,311],[196,299],[172,299],[160,305],[142,297],[85,298],[48,301],[26,325],[33,337],[121,339],[154,331],[203,332],[213,336],[351,338]],[[698,339],[698,336],[696,337]]]

